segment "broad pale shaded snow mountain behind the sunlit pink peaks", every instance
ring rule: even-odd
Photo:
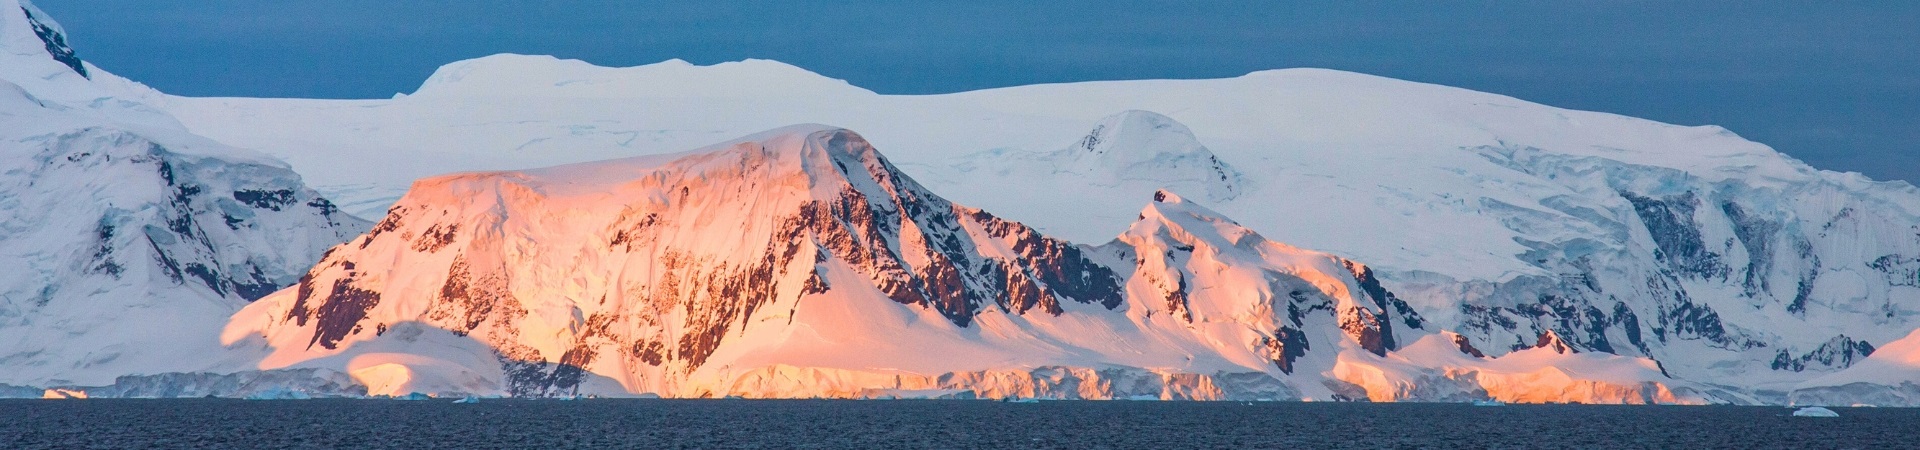
[[[152,96],[357,212],[430,173],[666,154],[789,123],[858,129],[933,190],[1071,242],[1125,231],[1137,198],[1171,187],[1369,262],[1486,354],[1551,331],[1764,402],[1920,327],[1907,183],[1820,171],[1720,127],[1357,73],[885,96],[776,62],[490,56],[392,100]]]

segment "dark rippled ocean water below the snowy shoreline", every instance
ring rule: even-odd
[[[0,448],[1916,448],[1920,410],[964,400],[0,400]]]

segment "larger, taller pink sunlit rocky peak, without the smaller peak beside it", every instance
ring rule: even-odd
[[[559,273],[595,281],[563,288]],[[424,321],[511,352],[509,369],[599,358],[664,379],[737,358],[720,344],[751,346],[753,327],[900,317],[950,331],[989,313],[1114,310],[1121,290],[1081,248],[924,190],[860,135],[797,125],[685,154],[422,181],[298,288],[257,304],[228,342],[259,327],[276,363]],[[536,375],[505,385],[578,383]]]

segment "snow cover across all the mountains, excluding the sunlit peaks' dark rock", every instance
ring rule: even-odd
[[[607,194],[618,190],[611,187],[664,187],[659,183],[666,175],[647,181],[630,175],[662,173],[659,167],[668,163],[716,171],[728,162],[712,160],[720,148],[781,137],[801,142],[806,138],[791,137],[835,127],[781,127],[833,123],[858,129],[862,142],[887,148],[893,163],[872,165],[887,167],[874,169],[872,177],[910,177],[904,185],[866,175],[847,181],[843,188],[866,198],[904,194],[906,200],[877,200],[874,206],[881,210],[876,212],[916,204],[912,198],[931,198],[931,192],[991,212],[933,202],[937,208],[931,212],[939,217],[914,210],[900,219],[920,223],[925,227],[920,231],[931,235],[908,233],[918,227],[891,229],[899,235],[885,237],[899,246],[887,252],[948,248],[925,240],[950,235],[956,242],[973,242],[960,246],[962,260],[1004,263],[1020,260],[1014,248],[1027,248],[1018,242],[1052,242],[1035,240],[1041,235],[1081,244],[1106,242],[1079,248],[1102,267],[1116,269],[1125,288],[1123,306],[1094,308],[1098,302],[1079,302],[1064,294],[1068,290],[1060,290],[1058,298],[1006,290],[1000,294],[1008,298],[1060,300],[1062,313],[1029,321],[1031,312],[1008,313],[1004,306],[987,308],[993,304],[987,298],[972,298],[968,308],[981,306],[972,315],[954,315],[956,306],[948,304],[925,317],[927,310],[879,294],[899,294],[900,285],[874,275],[879,273],[874,267],[841,265],[828,258],[812,273],[822,283],[837,281],[833,292],[843,306],[841,315],[829,313],[831,308],[789,308],[787,315],[795,321],[799,312],[841,317],[833,321],[849,329],[839,335],[841,340],[787,342],[774,337],[785,337],[780,333],[795,327],[741,323],[732,329],[753,337],[732,337],[730,344],[712,348],[712,358],[737,365],[682,362],[674,367],[695,371],[653,373],[637,365],[589,363],[586,369],[591,375],[584,375],[576,390],[858,396],[864,388],[933,392],[956,388],[941,385],[943,379],[968,379],[968,388],[981,396],[1066,396],[1071,388],[1064,387],[1073,383],[1133,383],[1142,390],[1092,394],[1486,396],[1530,402],[1549,396],[1519,387],[1559,387],[1561,392],[1584,392],[1588,400],[1601,402],[1910,404],[1908,398],[1920,398],[1920,388],[1899,369],[1901,354],[1910,354],[1903,350],[1903,337],[1920,327],[1914,321],[1920,315],[1920,190],[1907,183],[1820,171],[1711,125],[1680,127],[1572,112],[1327,69],[889,96],[764,60],[595,67],[547,56],[490,56],[449,63],[417,92],[390,100],[180,98],[73,58],[61,60],[58,44],[42,38],[52,37],[48,33],[63,38],[60,25],[31,4],[0,0],[0,81],[6,81],[0,83],[0,152],[17,154],[0,179],[8,183],[8,196],[0,202],[17,206],[8,208],[13,217],[0,215],[6,219],[0,252],[29,267],[10,281],[0,279],[12,283],[0,285],[6,288],[0,344],[8,344],[0,346],[0,365],[8,367],[0,371],[8,373],[0,383],[98,385],[115,373],[319,367],[376,385],[382,392],[461,394],[513,390],[515,367],[557,377],[553,363],[564,360],[566,346],[578,344],[566,338],[584,337],[578,321],[588,317],[568,304],[586,302],[580,292],[603,283],[582,273],[626,271],[597,265],[611,256],[588,246],[593,242],[588,237],[601,231],[574,223],[591,217],[588,221],[607,225],[609,213],[616,217],[618,212],[599,208],[632,198]],[[670,156],[766,129],[776,131]],[[649,158],[622,160],[636,156]],[[708,158],[707,165],[685,165],[687,158],[701,156]],[[874,158],[856,160],[872,163]],[[584,163],[603,160],[616,162]],[[171,167],[179,179],[146,167],[161,162],[165,165],[159,167]],[[584,165],[422,181],[442,173],[564,163]],[[290,285],[305,262],[319,260],[321,248],[365,227],[330,213],[330,208],[301,208],[323,204],[303,181],[340,200],[344,210],[367,217],[419,215],[420,210],[388,213],[396,202],[407,206],[401,196],[409,187],[426,187],[407,194],[413,206],[465,212],[467,219],[486,217],[484,204],[551,213],[543,221],[511,217],[505,223],[522,227],[490,231],[516,240],[478,246],[459,240],[488,248],[486,258],[495,258],[480,263],[528,262],[528,267],[516,269],[526,273],[501,285],[515,285],[516,294],[538,292],[541,308],[528,310],[528,319],[503,321],[518,338],[449,335],[436,331],[451,329],[447,317],[428,317],[428,325],[413,329],[419,333],[401,333],[417,340],[374,338],[369,344],[348,338],[342,342],[351,346],[334,354],[292,352],[286,342],[202,352],[219,335],[213,331],[219,319],[209,317],[244,304],[236,296],[238,281]],[[778,192],[760,183],[735,188]],[[680,187],[710,185],[695,177]],[[286,194],[278,194],[282,190]],[[641,198],[651,202],[676,204],[670,192],[645,192]],[[766,196],[785,198],[785,204],[768,200],[766,210],[728,217],[739,221],[735,227],[741,233],[768,231],[772,225],[751,217],[791,213],[791,206],[826,194],[808,192]],[[1139,208],[1160,192],[1171,198],[1179,198],[1171,192],[1181,192],[1212,210],[1200,208],[1206,212],[1198,213],[1187,200]],[[282,202],[282,196],[292,202]],[[1194,223],[1181,219],[1188,217],[1183,213],[1212,219]],[[993,219],[966,219],[975,215]],[[449,215],[445,223],[465,221]],[[113,233],[102,233],[106,225],[113,225]],[[386,250],[353,254],[396,258],[386,265],[417,262],[424,256],[411,248],[420,233],[455,235],[426,229],[426,221],[409,221],[413,225],[419,229],[407,229],[415,233],[407,242],[388,238],[372,246]],[[983,237],[985,225],[1018,231],[1020,238]],[[685,223],[676,227],[684,231],[657,237],[695,242],[710,227]],[[1244,237],[1258,237],[1256,229],[1263,237],[1252,242],[1263,244],[1242,248],[1248,242]],[[106,235],[111,238],[102,238]],[[1121,238],[1114,240],[1116,235]],[[578,262],[555,260],[551,246],[557,242],[570,248],[561,254],[574,252]],[[766,240],[722,242],[701,252],[710,252],[712,260],[749,263],[739,258],[758,252],[753,242]],[[1206,248],[1225,248],[1221,242],[1235,242],[1235,250],[1208,254]],[[1277,242],[1321,248],[1340,262],[1365,262],[1350,267],[1369,267],[1382,290],[1356,296],[1348,287],[1342,296],[1336,287],[1361,283],[1363,273],[1329,271],[1309,263],[1321,262],[1315,260],[1319,256],[1298,260],[1302,252],[1317,252]],[[1190,254],[1183,250],[1188,246],[1194,248]],[[1171,254],[1139,258],[1139,248]],[[447,279],[451,262],[436,258],[438,273],[355,279],[399,283],[405,287],[390,294],[413,298],[382,302],[372,312],[386,313],[380,319],[390,321],[365,325],[409,329],[392,319],[419,315],[426,306],[417,298],[440,288],[432,285],[436,277]],[[893,252],[889,258],[902,267],[935,267],[929,262],[943,256],[927,250]],[[109,275],[102,262],[121,267],[119,275]],[[167,262],[175,269],[167,269]],[[209,271],[219,277],[196,287],[190,281],[198,275],[186,269],[188,263],[213,267]],[[791,283],[806,279],[799,265],[778,269],[791,273]],[[1288,275],[1321,292],[1329,308],[1338,306],[1308,313],[1296,325],[1315,350],[1298,356],[1290,373],[1281,371],[1273,358],[1256,358],[1260,352],[1248,350],[1250,337],[1279,342],[1273,338],[1281,321],[1265,321],[1279,315],[1261,315],[1258,310],[1265,300],[1248,300],[1277,294],[1273,287],[1261,290],[1258,283],[1250,285],[1269,277],[1267,271],[1344,277],[1321,283]],[[324,275],[328,265],[307,273]],[[1177,288],[1179,281],[1208,283]],[[495,287],[490,283],[468,290],[490,290]],[[979,283],[985,281],[962,285],[983,288]],[[866,300],[849,294],[860,290],[852,287],[868,287]],[[1156,323],[1160,315],[1140,315],[1162,312],[1173,317],[1169,302],[1148,302],[1167,300],[1173,290],[1185,292],[1190,306],[1183,310],[1187,317],[1198,323],[1233,317],[1227,329],[1235,331],[1171,327]],[[1386,300],[1388,290],[1396,300]],[[563,292],[561,300],[549,298],[553,292]],[[783,290],[780,298],[787,294],[793,292]],[[252,310],[288,306],[286,296],[282,290]],[[1046,306],[1050,300],[1035,302],[1023,308],[1052,308]],[[1311,306],[1315,300],[1302,302]],[[1396,302],[1407,310],[1396,310]],[[382,310],[396,304],[413,304],[415,310]],[[1160,310],[1154,310],[1156,304]],[[780,308],[756,313],[772,317],[774,310]],[[906,325],[845,325],[849,317],[876,312],[889,312],[881,317]],[[132,319],[156,315],[173,319]],[[227,337],[219,337],[225,342],[240,342],[234,338],[246,333],[234,335],[236,329],[267,327],[263,323],[273,319],[257,313],[234,317],[242,319],[228,323]],[[284,313],[278,317],[290,319]],[[977,321],[954,323],[954,317]],[[1100,319],[1068,327],[1060,323],[1079,321],[1062,317]],[[1116,317],[1127,319],[1117,323]],[[497,317],[480,313],[478,319]],[[1311,323],[1315,319],[1321,323]],[[1369,344],[1384,340],[1359,333],[1365,327],[1357,323],[1394,323],[1398,340]],[[1075,327],[1096,325],[1139,329],[1154,337],[1144,348],[1160,350],[1079,348],[1075,338],[1094,331]],[[1290,317],[1286,325],[1294,325]],[[680,329],[674,333],[685,335]],[[897,365],[914,365],[912,358],[925,352],[899,350],[893,356],[902,358],[900,363],[866,367],[874,365],[868,363],[872,360],[828,350],[829,342],[866,337],[862,333],[904,333],[916,342],[950,344],[952,352],[972,354],[973,360],[902,369]],[[1002,340],[979,340],[970,333]],[[58,338],[65,335],[84,338]],[[265,333],[265,338],[284,335]],[[814,342],[814,348],[791,352],[812,356],[789,362],[776,358],[780,346],[743,344],[776,340],[797,348]],[[499,348],[503,342],[526,344],[538,358]],[[1336,348],[1329,348],[1331,342],[1338,342]],[[430,346],[444,350],[419,350]],[[1459,360],[1471,354],[1467,346],[1484,358]],[[280,360],[261,363],[255,350],[273,350],[269,360]],[[528,358],[488,356],[503,350]],[[1173,356],[1179,360],[1169,360]],[[989,360],[1000,363],[985,363]],[[1476,373],[1476,381],[1463,383],[1463,373]],[[1150,392],[1146,387],[1152,387]]]

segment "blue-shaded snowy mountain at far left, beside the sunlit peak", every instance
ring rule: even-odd
[[[194,137],[0,0],[0,385],[242,367],[219,329],[367,223]]]

